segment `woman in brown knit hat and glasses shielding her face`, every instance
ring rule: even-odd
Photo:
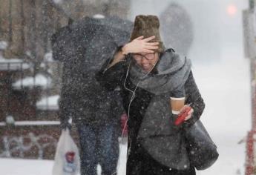
[[[205,104],[191,61],[165,50],[159,27],[157,16],[137,16],[130,42],[116,48],[96,79],[108,90],[122,87],[128,113],[126,174],[193,175],[183,129],[197,122]],[[188,105],[185,122],[174,125]]]

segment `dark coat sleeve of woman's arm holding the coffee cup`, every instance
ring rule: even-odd
[[[194,113],[192,113],[191,119],[188,119],[184,124],[185,126],[193,125],[200,119],[200,116],[203,113],[205,108],[205,103],[203,102],[203,98],[197,88],[197,84],[194,81],[193,73],[190,72],[188,76],[188,80],[185,83],[185,91],[186,91],[186,104],[191,103],[191,108],[194,109]]]

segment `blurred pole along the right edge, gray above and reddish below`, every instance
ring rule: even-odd
[[[244,53],[250,61],[252,128],[246,139],[246,175],[256,174],[256,12],[255,0],[243,10]]]

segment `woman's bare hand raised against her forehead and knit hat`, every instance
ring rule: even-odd
[[[154,50],[158,49],[159,42],[150,42],[156,36],[151,36],[144,39],[144,36],[140,36],[137,39],[125,44],[122,47],[125,53],[154,53]]]

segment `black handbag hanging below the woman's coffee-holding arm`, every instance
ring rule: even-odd
[[[191,166],[197,170],[205,170],[216,162],[219,156],[217,146],[200,120],[190,127],[184,128],[184,135]]]

